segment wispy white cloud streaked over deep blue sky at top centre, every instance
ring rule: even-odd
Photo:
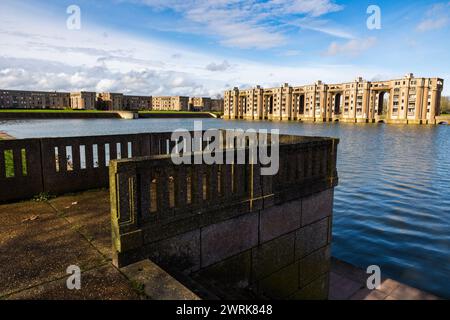
[[[298,17],[313,19],[343,8],[334,0],[131,1],[159,10],[173,10],[193,24],[190,30],[217,36],[224,46],[247,49],[267,49],[285,44],[287,40],[282,31],[286,24],[284,21]],[[179,27],[176,29],[181,31]],[[185,27],[181,29],[187,30]],[[330,33],[326,28],[322,29]]]

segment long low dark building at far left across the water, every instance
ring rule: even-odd
[[[1,109],[66,109],[70,108],[70,93],[1,90]]]

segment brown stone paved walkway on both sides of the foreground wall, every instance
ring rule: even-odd
[[[0,299],[141,299],[142,289],[111,264],[109,193],[67,195],[0,206]],[[66,269],[82,270],[82,289],[66,287]],[[436,299],[386,279],[365,288],[367,275],[333,260],[330,299]]]

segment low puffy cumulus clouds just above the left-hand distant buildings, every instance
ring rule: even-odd
[[[0,88],[48,91],[123,92],[126,94],[206,95],[210,90],[187,74],[155,70],[114,72],[106,67],[79,67],[76,72],[63,64],[45,70],[46,62],[18,60],[26,65],[39,63],[44,68],[5,67],[0,58]],[[214,91],[213,93],[219,93]]]

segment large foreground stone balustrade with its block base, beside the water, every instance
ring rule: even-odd
[[[151,258],[235,297],[326,299],[338,141],[288,140],[275,176],[258,164],[113,161],[114,264]]]

